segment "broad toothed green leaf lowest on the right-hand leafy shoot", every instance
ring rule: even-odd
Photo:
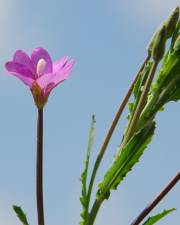
[[[130,139],[126,146],[117,155],[113,165],[99,184],[97,197],[107,198],[111,189],[116,189],[123,178],[139,161],[144,150],[150,143],[155,130],[155,122],[151,121],[147,126]]]

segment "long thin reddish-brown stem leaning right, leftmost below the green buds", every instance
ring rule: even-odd
[[[91,175],[91,178],[90,178],[90,183],[89,183],[89,188],[88,188],[88,194],[87,194],[87,211],[88,211],[88,209],[89,209],[90,198],[91,198],[91,192],[92,192],[94,180],[95,180],[95,177],[96,177],[97,170],[98,170],[98,168],[99,168],[99,166],[100,166],[101,160],[102,160],[102,158],[103,158],[103,155],[104,155],[104,153],[105,153],[105,151],[106,151],[106,148],[107,148],[107,146],[108,146],[108,144],[109,144],[109,141],[110,141],[110,139],[111,139],[111,137],[112,137],[112,134],[113,134],[113,132],[114,132],[114,130],[115,130],[115,128],[116,128],[116,125],[117,125],[117,123],[118,123],[118,121],[119,121],[119,119],[120,119],[120,117],[121,117],[121,114],[122,114],[122,112],[123,112],[123,110],[124,110],[124,108],[125,108],[125,106],[126,106],[128,100],[129,100],[131,94],[132,94],[134,85],[135,85],[137,79],[139,78],[139,74],[140,74],[140,72],[144,69],[144,66],[145,66],[146,63],[149,61],[149,59],[150,59],[150,56],[148,55],[148,56],[145,58],[145,60],[144,60],[144,62],[143,62],[143,64],[142,64],[142,66],[141,66],[141,68],[139,69],[137,75],[135,76],[133,82],[131,83],[131,85],[130,85],[130,87],[129,87],[129,90],[128,90],[126,96],[124,97],[124,99],[123,99],[123,101],[122,101],[122,103],[121,103],[121,105],[120,105],[120,107],[119,107],[119,109],[118,109],[118,111],[117,111],[117,113],[116,113],[114,119],[113,119],[113,122],[112,122],[112,124],[111,124],[111,127],[110,127],[110,129],[109,129],[109,131],[108,131],[108,133],[107,133],[107,135],[106,135],[106,138],[105,138],[105,140],[104,140],[104,142],[103,142],[103,144],[102,144],[102,147],[101,147],[101,149],[100,149],[100,151],[99,151],[99,154],[98,154],[97,159],[96,159],[96,161],[95,161],[94,168],[93,168],[93,172],[92,172],[92,175]]]

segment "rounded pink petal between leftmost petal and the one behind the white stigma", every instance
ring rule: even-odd
[[[35,68],[30,57],[22,50],[17,50],[14,54],[13,61],[26,66],[32,73],[35,72]]]

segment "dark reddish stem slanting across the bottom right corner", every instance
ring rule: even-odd
[[[138,225],[151,212],[151,210],[168,194],[168,192],[180,181],[180,172],[170,181],[170,183],[161,191],[161,193],[139,214],[131,223]]]

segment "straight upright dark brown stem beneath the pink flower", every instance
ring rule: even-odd
[[[36,158],[36,200],[38,225],[44,225],[43,208],[43,109],[38,109],[37,158]]]

